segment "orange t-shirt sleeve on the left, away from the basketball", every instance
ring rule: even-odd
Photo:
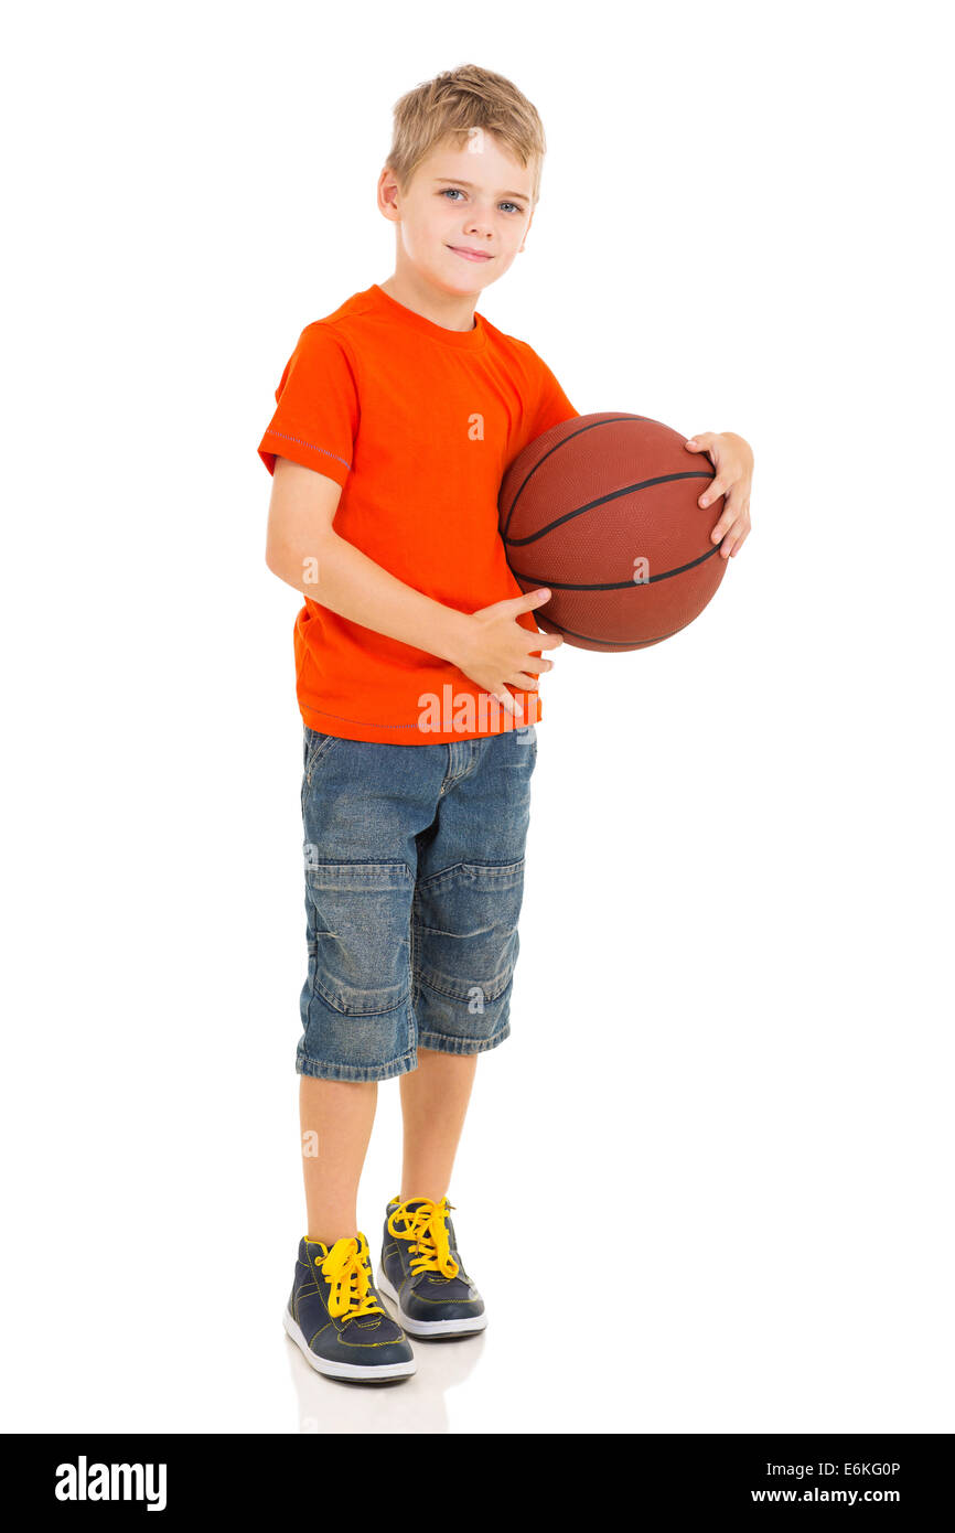
[[[330,325],[307,325],[276,389],[276,412],[259,443],[274,474],[276,458],[345,484],[359,429],[359,392],[345,345]]]

